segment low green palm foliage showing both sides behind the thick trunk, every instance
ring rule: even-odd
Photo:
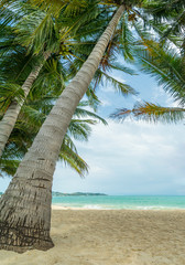
[[[1,157],[1,176],[13,177],[20,161],[32,145],[46,114],[52,108],[53,102],[54,98],[50,95],[50,98],[44,96],[42,99],[32,99],[24,104]],[[88,166],[78,155],[73,138],[87,141],[91,132],[91,125],[96,125],[98,121],[107,124],[105,119],[85,109],[84,106],[88,106],[88,102],[81,102],[76,108],[58,156],[58,161],[74,169],[80,177],[88,172]]]

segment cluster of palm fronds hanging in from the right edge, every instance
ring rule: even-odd
[[[159,85],[177,103],[177,107],[162,107],[159,104],[140,102],[132,109],[118,109],[111,115],[123,120],[126,117],[146,121],[178,123],[184,119],[185,106],[185,38],[184,38],[184,1],[151,1],[145,4],[145,12],[154,18],[149,26],[134,21],[139,35],[134,49],[135,62],[140,71],[155,77]],[[181,13],[181,21],[177,13]],[[167,24],[168,19],[168,24]],[[166,23],[164,23],[166,21]],[[172,23],[173,22],[173,23]],[[173,26],[171,26],[173,24]],[[155,34],[149,34],[150,26]],[[178,26],[178,30],[177,28]]]

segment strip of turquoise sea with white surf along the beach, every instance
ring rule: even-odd
[[[54,197],[53,205],[106,210],[185,209],[185,195],[80,195]]]

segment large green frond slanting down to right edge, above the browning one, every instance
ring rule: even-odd
[[[170,93],[175,100],[185,103],[185,65],[177,50],[171,45],[163,45],[152,39],[145,39],[142,31],[138,31],[141,36],[141,44],[135,51],[137,62],[142,72],[154,76],[159,85]],[[145,46],[145,49],[144,49]]]

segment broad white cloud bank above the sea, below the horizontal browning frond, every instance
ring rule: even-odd
[[[183,190],[185,169],[183,134],[182,126],[155,126],[142,121],[98,125],[94,127],[89,142],[77,144],[90,166],[89,174],[81,180],[75,172],[58,166],[54,190],[178,194]]]

